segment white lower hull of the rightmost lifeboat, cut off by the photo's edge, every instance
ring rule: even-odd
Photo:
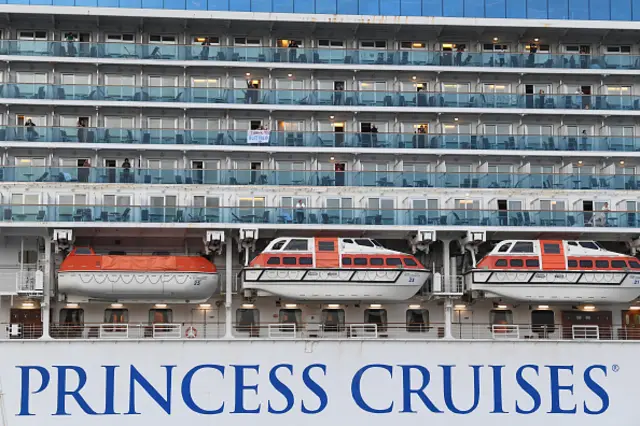
[[[469,290],[511,300],[629,303],[640,297],[637,273],[474,270],[465,279]]]

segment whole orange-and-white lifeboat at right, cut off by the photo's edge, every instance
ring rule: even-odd
[[[535,302],[628,303],[640,296],[640,262],[595,241],[502,241],[465,273],[487,297]]]

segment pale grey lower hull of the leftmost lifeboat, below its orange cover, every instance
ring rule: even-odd
[[[68,301],[88,299],[199,303],[219,290],[219,275],[205,272],[66,271],[58,291]]]

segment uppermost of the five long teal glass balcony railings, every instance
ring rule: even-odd
[[[75,41],[2,40],[0,54],[109,59],[156,59],[213,62],[275,62],[447,66],[452,68],[640,69],[637,55],[551,53],[434,52],[382,49],[323,49],[178,44],[85,43]]]

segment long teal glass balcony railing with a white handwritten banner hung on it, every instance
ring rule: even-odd
[[[334,133],[270,131],[262,143],[248,130],[120,129],[0,126],[2,142],[187,144],[322,148],[615,151],[640,150],[640,138],[616,136],[465,135],[426,133]]]

